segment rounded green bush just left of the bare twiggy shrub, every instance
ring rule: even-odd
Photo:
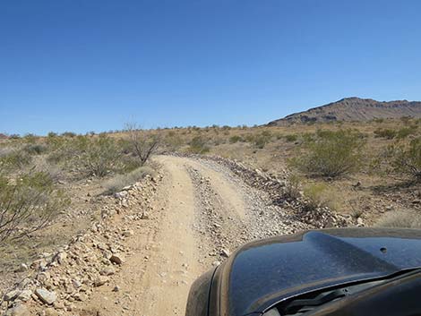
[[[114,139],[99,136],[90,141],[79,162],[87,175],[105,176],[124,167],[121,161],[122,155]]]

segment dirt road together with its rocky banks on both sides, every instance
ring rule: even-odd
[[[285,179],[218,158],[156,160],[157,179],[117,193],[101,223],[6,294],[10,314],[184,315],[193,280],[242,243],[344,224],[324,210],[317,225],[300,215],[303,201],[280,202]]]

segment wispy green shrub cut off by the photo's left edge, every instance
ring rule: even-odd
[[[0,243],[47,226],[68,203],[44,173],[21,175],[14,182],[0,177]]]

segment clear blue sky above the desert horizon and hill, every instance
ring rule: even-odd
[[[421,100],[421,1],[2,0],[0,132],[263,124]]]

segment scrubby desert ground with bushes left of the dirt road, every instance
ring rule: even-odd
[[[13,135],[0,141],[0,265],[37,258],[101,216],[102,197],[154,175],[156,137],[141,130]]]

